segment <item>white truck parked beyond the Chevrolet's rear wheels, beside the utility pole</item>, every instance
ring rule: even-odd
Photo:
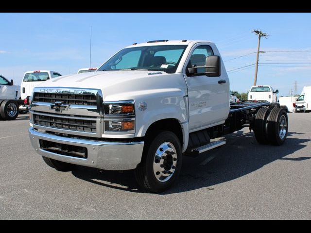
[[[274,91],[272,86],[269,86],[269,85],[251,86],[248,92],[248,100],[268,101],[270,103],[276,103],[277,93],[278,93],[278,90]]]

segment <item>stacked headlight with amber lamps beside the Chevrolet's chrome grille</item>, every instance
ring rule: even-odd
[[[133,100],[104,102],[104,132],[135,133]]]

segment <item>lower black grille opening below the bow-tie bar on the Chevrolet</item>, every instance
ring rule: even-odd
[[[96,120],[70,119],[34,114],[34,123],[46,127],[96,133]]]

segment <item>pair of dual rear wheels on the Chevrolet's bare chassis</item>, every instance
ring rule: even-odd
[[[280,146],[288,132],[288,116],[284,108],[260,108],[255,117],[254,132],[260,144]]]

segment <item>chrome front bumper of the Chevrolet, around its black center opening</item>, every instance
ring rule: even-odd
[[[56,136],[38,132],[34,128],[29,128],[28,131],[31,143],[38,154],[65,163],[97,167],[104,170],[130,170],[136,168],[141,161],[144,147],[143,141],[96,141]],[[44,150],[40,147],[40,139],[85,147],[87,149],[87,158],[77,158]]]

